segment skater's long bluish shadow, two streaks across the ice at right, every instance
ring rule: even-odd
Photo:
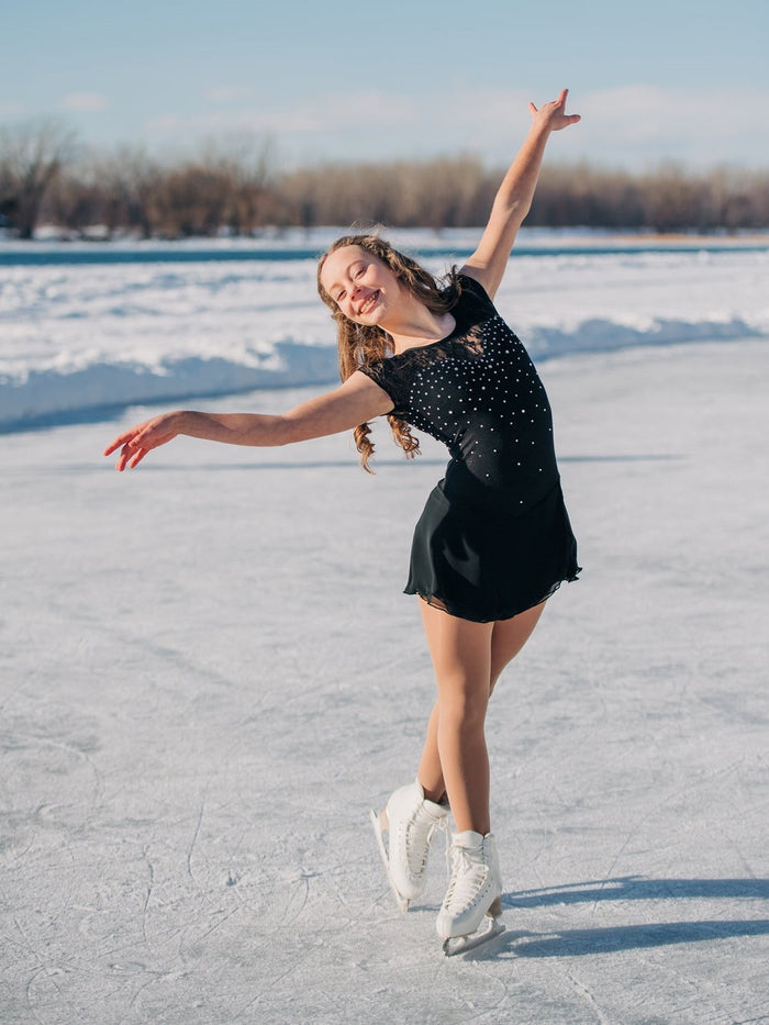
[[[510,912],[557,904],[681,900],[683,898],[767,900],[769,879],[644,879],[629,876],[622,879],[597,880],[566,887],[508,893],[503,895],[502,904]],[[468,952],[465,957],[475,960],[512,957],[584,957],[645,947],[766,935],[769,935],[769,918],[650,922],[643,925],[605,928],[560,929],[547,934],[508,929],[486,946]]]

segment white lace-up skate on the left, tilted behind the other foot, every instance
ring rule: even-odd
[[[378,815],[371,811],[379,853],[401,911],[408,911],[410,901],[424,890],[430,844],[447,814],[447,805],[426,800],[419,780],[395,790]]]

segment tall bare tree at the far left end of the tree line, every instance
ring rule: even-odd
[[[59,121],[0,129],[0,213],[21,238],[32,238],[47,190],[75,155],[74,132]]]

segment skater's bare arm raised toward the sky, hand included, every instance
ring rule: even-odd
[[[478,248],[462,267],[462,274],[480,281],[492,299],[500,287],[519,227],[532,205],[550,132],[580,120],[579,114],[566,113],[568,92],[564,89],[557,100],[539,109],[534,103],[528,104],[533,119],[528,135],[497,192]]]

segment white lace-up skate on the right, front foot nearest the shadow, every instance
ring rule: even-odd
[[[491,833],[468,829],[452,842],[452,879],[435,928],[444,940],[444,954],[470,950],[504,931],[502,878],[497,845]],[[479,926],[487,918],[484,928]]]

